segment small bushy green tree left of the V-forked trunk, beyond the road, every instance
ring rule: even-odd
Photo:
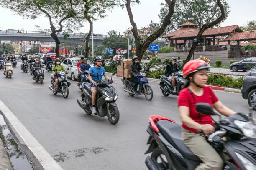
[[[109,37],[105,38],[102,42],[102,45],[105,47],[113,49],[113,55],[116,54],[116,50],[119,52],[122,49],[128,49],[128,39],[120,36],[120,33],[117,34],[116,31],[112,30],[107,32]]]

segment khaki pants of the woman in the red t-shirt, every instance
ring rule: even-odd
[[[182,137],[184,144],[202,160],[195,170],[223,170],[222,158],[205,136],[182,128]]]

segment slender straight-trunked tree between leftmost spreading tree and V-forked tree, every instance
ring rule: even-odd
[[[105,12],[117,5],[116,0],[83,0],[84,1],[84,18],[89,22],[89,32],[85,37],[85,57],[89,57],[89,40],[92,34],[92,21],[97,17],[105,18]]]

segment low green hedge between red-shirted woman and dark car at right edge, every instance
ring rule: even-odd
[[[211,74],[208,76],[208,85],[216,85],[220,87],[238,88],[243,85],[243,76],[240,78],[233,78],[227,75]]]

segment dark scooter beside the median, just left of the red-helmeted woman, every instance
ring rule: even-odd
[[[172,95],[178,95],[179,91],[182,90],[183,85],[187,82],[187,80],[183,77],[183,72],[182,71],[177,71],[174,73],[174,76],[176,76],[175,79],[175,84],[176,84],[176,92],[173,92],[173,87],[172,87],[172,82],[170,82],[165,75],[161,75],[161,82],[160,82],[160,89],[162,90],[162,93],[164,96],[169,96],[170,94]]]

